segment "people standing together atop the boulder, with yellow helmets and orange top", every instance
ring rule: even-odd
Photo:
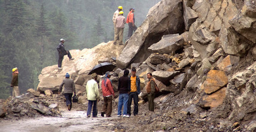
[[[135,25],[135,15],[134,15],[135,8],[130,8],[129,13],[127,15],[127,19],[123,16],[123,7],[119,6],[117,11],[114,12],[113,15],[113,24],[114,24],[114,44],[123,45],[123,31],[124,31],[124,24],[129,25],[129,31],[127,39],[129,39],[133,31],[136,31],[137,27]],[[125,20],[126,19],[126,20]]]

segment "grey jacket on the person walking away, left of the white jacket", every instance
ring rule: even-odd
[[[61,83],[61,86],[60,86],[60,89],[58,92],[61,92],[62,89],[63,89],[63,85],[64,85],[64,94],[76,94],[76,88],[75,88],[75,85],[74,85],[74,81],[73,79],[70,79],[70,78],[65,78],[63,80],[63,83]]]

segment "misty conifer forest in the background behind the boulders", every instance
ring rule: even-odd
[[[92,48],[113,41],[113,14],[123,6],[124,17],[135,8],[135,25],[160,0],[0,0],[0,98],[11,95],[11,69],[18,67],[20,93],[36,90],[43,67],[57,65],[57,46]],[[128,28],[124,28],[124,39]]]

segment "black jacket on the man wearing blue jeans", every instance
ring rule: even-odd
[[[119,94],[127,94],[130,92],[129,89],[129,77],[128,76],[121,76],[121,78],[118,79],[118,91]]]

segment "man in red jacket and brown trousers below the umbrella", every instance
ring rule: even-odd
[[[110,80],[110,72],[105,73],[105,77],[101,82],[102,95],[104,98],[104,105],[102,107],[101,116],[111,117],[112,113],[112,100],[115,96],[112,81]]]

